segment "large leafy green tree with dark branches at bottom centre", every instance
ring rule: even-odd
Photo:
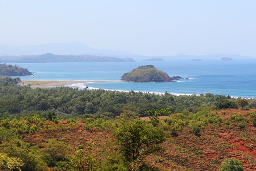
[[[140,119],[131,122],[122,119],[121,124],[115,132],[120,151],[128,161],[129,169],[137,170],[145,156],[162,150],[160,144],[165,140],[164,132]]]

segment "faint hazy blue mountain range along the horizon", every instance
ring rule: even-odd
[[[56,54],[65,56],[82,56],[82,55],[93,55],[93,56],[112,56],[118,58],[133,58],[136,60],[147,60],[151,58],[162,58],[163,60],[193,60],[201,59],[205,60],[221,60],[223,57],[232,58],[233,60],[243,60],[250,59],[252,57],[233,55],[233,54],[209,54],[209,55],[185,55],[178,54],[174,56],[144,56],[139,54],[134,54],[130,52],[125,52],[121,50],[109,50],[109,49],[94,49],[92,47],[86,46],[79,42],[70,43],[47,43],[41,45],[25,45],[25,46],[7,46],[0,45],[0,57],[2,60],[6,56],[11,60],[21,59],[22,56],[25,58],[38,57],[39,54]],[[20,56],[22,55],[22,56]],[[0,61],[1,62],[1,61]]]

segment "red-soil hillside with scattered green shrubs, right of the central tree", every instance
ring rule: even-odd
[[[174,114],[163,119],[173,126],[170,132],[176,131],[169,141],[163,143],[164,152],[148,157],[149,163],[161,170],[218,170],[223,159],[237,158],[246,170],[256,170],[256,127],[251,123],[251,113],[255,116],[254,110],[241,109],[211,111],[208,117],[208,113],[201,112],[203,116],[199,115],[202,118],[199,119],[201,126],[198,134],[193,133],[191,125],[182,126],[184,123],[175,121],[180,125],[177,127],[170,122],[184,117],[182,115]],[[221,123],[214,118],[221,118]],[[244,127],[240,123],[244,123]],[[181,131],[177,131],[179,128]]]

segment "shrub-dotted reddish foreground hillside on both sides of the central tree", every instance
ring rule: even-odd
[[[136,121],[128,115],[120,115],[120,117],[125,118],[127,124],[130,124],[130,121]],[[242,161],[246,170],[255,170],[256,127],[252,125],[254,117],[254,110],[204,110],[196,114],[172,114],[160,120],[159,123],[145,122],[149,125],[154,124],[154,129],[163,129],[168,137],[161,144],[164,150],[154,152],[143,159],[147,166],[146,170],[151,168],[154,171],[214,171],[218,170],[225,158],[237,158]],[[68,170],[65,169],[67,166],[68,168],[75,167],[75,163],[69,161],[79,157],[76,156],[79,151],[83,151],[94,159],[90,162],[95,163],[97,169],[126,167],[126,163],[122,162],[120,156],[120,145],[113,133],[122,125],[117,117],[65,120],[54,117],[46,118],[48,120],[34,115],[19,120],[0,120],[2,125],[10,123],[7,130],[12,130],[16,132],[16,135],[23,137],[18,140],[18,147],[13,149],[15,152],[20,149],[24,154],[18,153],[17,156],[26,159],[26,164],[31,164],[22,170],[29,169],[28,166],[37,168],[38,166],[33,166],[34,163],[45,168],[43,170],[56,170],[57,168]],[[141,119],[144,120],[144,118]],[[244,122],[243,127],[239,126],[240,122]],[[6,132],[7,130],[5,129]],[[16,135],[4,139],[2,146],[9,147],[17,142]],[[8,143],[7,140],[11,139],[13,141]],[[90,149],[91,144],[94,145]],[[54,152],[54,149],[58,149],[58,153],[55,153],[57,151]],[[33,151],[34,154],[28,151]],[[33,157],[32,163],[29,158]]]

